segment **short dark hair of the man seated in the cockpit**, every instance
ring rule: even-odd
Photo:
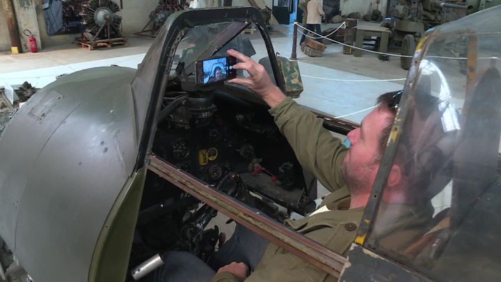
[[[393,127],[393,120],[395,120],[395,115],[397,114],[397,107],[400,102],[402,91],[392,91],[380,95],[376,102],[380,110],[388,111],[392,113],[391,118],[386,120],[386,126],[381,131],[381,136],[379,137],[379,155],[383,156],[383,152],[386,148],[386,143],[388,143],[388,138]]]

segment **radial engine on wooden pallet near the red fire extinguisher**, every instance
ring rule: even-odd
[[[122,17],[116,15],[120,7],[114,1],[90,0],[81,4],[82,24],[86,31],[77,38],[77,44],[93,50],[95,47],[125,45],[127,38],[120,35]]]

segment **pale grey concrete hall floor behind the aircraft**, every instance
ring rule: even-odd
[[[332,26],[337,25],[324,24],[322,29]],[[291,54],[292,31],[291,24],[275,26],[271,32],[273,47],[281,56],[289,57]],[[152,41],[148,37],[132,36],[126,46],[110,49],[89,51],[68,43],[34,54],[13,55],[3,52],[0,53],[0,86],[28,81],[35,87],[43,87],[58,75],[103,65],[136,68]],[[297,101],[334,116],[372,107],[378,95],[399,90],[404,84],[403,80],[365,80],[404,79],[407,74],[406,70],[400,68],[398,57],[390,57],[390,61],[379,61],[376,54],[369,52],[363,52],[361,57],[354,57],[342,54],[342,46],[337,44],[327,45],[322,57],[306,56],[300,49],[297,54],[305,88]],[[362,112],[347,116],[347,119],[360,123],[365,114]]]

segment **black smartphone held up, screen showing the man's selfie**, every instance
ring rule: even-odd
[[[237,63],[237,58],[232,56],[197,61],[196,84],[213,84],[237,77],[237,71],[233,70],[235,63]]]

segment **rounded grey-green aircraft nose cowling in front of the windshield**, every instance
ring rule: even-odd
[[[1,136],[0,236],[35,281],[88,279],[104,221],[136,164],[134,73],[65,75],[33,95]]]

